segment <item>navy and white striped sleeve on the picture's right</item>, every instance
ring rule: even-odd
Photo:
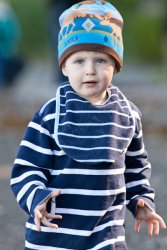
[[[142,198],[145,204],[155,210],[154,190],[150,187],[151,164],[143,142],[141,115],[135,112],[135,133],[125,156],[125,182],[127,208],[136,216],[137,202]]]

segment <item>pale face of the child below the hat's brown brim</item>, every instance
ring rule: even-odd
[[[62,67],[74,91],[93,104],[106,100],[106,90],[111,84],[114,69],[114,60],[96,51],[75,52]]]

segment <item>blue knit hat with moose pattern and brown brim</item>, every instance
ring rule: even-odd
[[[123,19],[106,1],[83,1],[64,11],[60,18],[59,66],[72,53],[81,50],[111,55],[117,72],[123,63]]]

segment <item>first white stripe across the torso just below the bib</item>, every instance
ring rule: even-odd
[[[125,171],[125,168],[119,168],[119,169],[74,169],[74,168],[64,168],[60,170],[53,170],[51,172],[52,175],[59,175],[59,174],[77,174],[77,175],[118,175],[123,174]]]

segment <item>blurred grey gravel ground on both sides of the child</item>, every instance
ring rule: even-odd
[[[156,190],[157,211],[167,221],[167,86],[155,68],[125,68],[115,83],[143,114],[145,144],[152,162],[151,184]],[[55,95],[52,65],[29,62],[15,85],[0,91],[0,250],[23,249],[26,215],[9,188],[10,168],[23,131],[34,111]],[[158,81],[159,84],[156,84]],[[127,211],[126,236],[129,250],[166,250],[167,232],[149,239],[146,227],[134,233],[134,219]]]

